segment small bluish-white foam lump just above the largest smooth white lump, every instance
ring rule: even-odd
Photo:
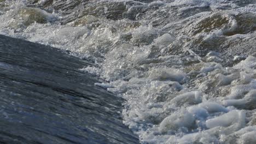
[[[213,103],[213,102],[205,102],[199,104],[199,107],[202,107],[203,109],[206,109],[209,113],[214,112],[228,112],[229,110],[223,107],[220,104]]]

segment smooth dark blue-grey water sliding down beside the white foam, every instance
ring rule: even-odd
[[[91,63],[0,35],[0,143],[138,143]]]

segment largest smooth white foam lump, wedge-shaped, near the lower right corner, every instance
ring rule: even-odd
[[[232,124],[237,123],[243,127],[245,125],[245,112],[233,110],[228,113],[225,113],[222,116],[208,119],[206,121],[206,127],[214,128],[214,127],[229,127]]]

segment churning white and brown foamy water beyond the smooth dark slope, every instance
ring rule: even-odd
[[[0,34],[95,63],[141,143],[256,143],[255,0],[0,0]]]

